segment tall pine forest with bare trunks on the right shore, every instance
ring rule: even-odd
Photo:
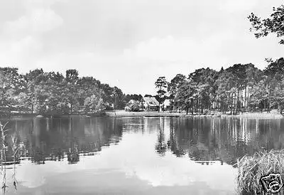
[[[164,77],[155,83],[158,95],[168,90],[173,107],[187,112],[218,110],[246,112],[272,108],[282,112],[284,107],[284,58],[267,60],[268,66],[259,70],[255,65],[235,64],[219,71],[200,68],[188,77],[178,74],[169,83]]]

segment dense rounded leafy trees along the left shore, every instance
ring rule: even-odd
[[[43,69],[19,74],[17,68],[0,68],[0,110],[39,113],[41,115],[75,114],[124,109],[125,102],[138,95],[124,95],[92,77],[79,77],[77,70],[66,74]],[[138,98],[138,97],[136,97]]]

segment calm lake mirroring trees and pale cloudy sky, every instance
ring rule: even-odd
[[[284,148],[284,120],[23,117],[7,127],[20,159],[17,191],[7,166],[7,194],[236,194],[236,159]]]

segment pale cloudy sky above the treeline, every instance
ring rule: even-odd
[[[77,69],[124,93],[155,94],[197,68],[235,63],[265,68],[283,57],[274,35],[256,39],[251,12],[263,18],[282,0],[1,0],[0,67],[20,73]]]

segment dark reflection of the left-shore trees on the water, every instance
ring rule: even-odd
[[[12,120],[10,134],[18,132],[18,154],[36,164],[80,161],[80,154],[94,155],[102,147],[117,144],[122,136],[122,122],[107,118],[65,117],[60,119]],[[11,156],[9,148],[7,153]]]

